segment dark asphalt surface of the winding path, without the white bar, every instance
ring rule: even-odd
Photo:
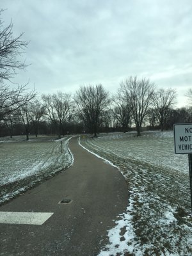
[[[0,211],[54,212],[42,225],[0,224],[2,256],[94,256],[108,244],[108,232],[128,204],[122,174],[78,145],[69,143],[74,164]],[[70,204],[58,204],[63,199]]]

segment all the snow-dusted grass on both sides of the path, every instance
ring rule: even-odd
[[[62,153],[60,143],[0,138],[0,204],[70,166],[68,138]],[[188,156],[175,155],[173,132],[102,134],[80,143],[118,167],[130,196],[99,256],[191,256]]]

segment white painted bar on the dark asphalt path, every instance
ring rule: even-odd
[[[42,225],[54,212],[0,212],[0,223]]]

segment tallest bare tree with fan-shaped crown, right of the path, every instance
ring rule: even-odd
[[[120,88],[124,93],[124,98],[130,103],[132,116],[136,125],[137,135],[141,135],[141,125],[147,115],[148,109],[152,104],[154,95],[154,83],[146,78],[138,79],[129,77],[120,84]]]

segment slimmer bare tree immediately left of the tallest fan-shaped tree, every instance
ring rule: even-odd
[[[125,99],[121,90],[113,97],[113,115],[120,125],[122,125],[123,131],[126,132],[128,125],[131,121],[131,104]]]

